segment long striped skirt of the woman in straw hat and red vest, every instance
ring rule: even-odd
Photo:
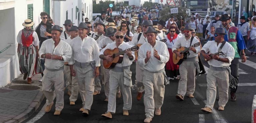
[[[36,56],[34,45],[30,45],[29,47],[21,45],[18,57],[20,72],[26,73],[28,78],[32,78],[35,74],[43,72],[40,59]]]

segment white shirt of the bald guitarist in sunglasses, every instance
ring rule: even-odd
[[[127,50],[128,48],[131,48],[131,47],[133,47],[133,46],[131,46],[131,45],[125,43],[125,42],[122,42],[122,44],[120,44],[120,45],[118,46],[118,49],[121,49],[122,51],[124,51],[124,50]],[[106,49],[113,50],[114,48],[116,48],[116,42],[113,42],[113,43],[111,43],[111,44],[107,44],[107,46],[106,46],[105,48],[103,48],[103,49],[99,52],[99,56],[100,56],[100,55],[104,55],[104,51],[105,51]],[[120,51],[120,50],[119,50],[119,51]],[[134,51],[132,51],[132,55],[133,55],[134,59],[133,59],[133,60],[130,60],[129,57],[128,57],[126,54],[124,54],[124,55],[123,55],[123,61],[122,61],[122,63],[116,63],[115,66],[119,66],[119,67],[122,67],[122,66],[130,66],[130,65],[133,63],[133,61],[135,60]],[[98,56],[98,57],[99,57],[99,56]]]

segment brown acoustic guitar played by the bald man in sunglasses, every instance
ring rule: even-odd
[[[134,46],[132,48],[129,48],[131,51],[136,51],[139,49],[138,46]],[[121,63],[123,61],[123,54],[125,54],[125,51],[121,51],[119,52],[118,48],[114,48],[113,50],[110,50],[110,49],[106,49],[104,51],[104,55],[107,56],[107,55],[110,55],[112,56],[113,60],[112,61],[107,61],[107,60],[103,60],[103,66],[104,68],[108,69],[108,68],[113,68],[116,63]]]

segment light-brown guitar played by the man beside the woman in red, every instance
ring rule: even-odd
[[[199,46],[200,46],[200,42],[195,43],[191,47],[199,47]],[[181,47],[181,48],[177,49],[177,52],[181,52],[182,56],[178,57],[175,53],[173,53],[173,63],[180,65],[183,62],[183,60],[184,60],[183,59],[183,57],[184,57],[183,54],[185,52],[187,52],[188,50],[189,50],[189,48],[186,48],[186,47]]]

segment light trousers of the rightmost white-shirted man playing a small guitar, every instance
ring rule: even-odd
[[[228,102],[228,87],[229,87],[229,74],[228,70],[223,71],[215,71],[212,69],[208,69],[208,73],[206,75],[207,78],[207,90],[206,97],[207,107],[213,109],[213,105],[216,98],[216,86],[218,84],[219,89],[219,106],[225,107]]]

